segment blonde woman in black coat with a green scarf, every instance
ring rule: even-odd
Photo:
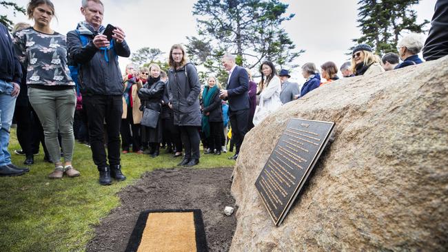
[[[220,87],[216,78],[209,77],[202,95],[202,132],[205,134],[208,147],[210,148],[205,151],[205,154],[214,153],[215,155],[221,155],[221,135],[223,134],[224,126],[219,90]]]

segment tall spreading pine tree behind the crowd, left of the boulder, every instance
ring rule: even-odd
[[[236,55],[238,65],[258,66],[269,60],[292,65],[303,50],[289,39],[281,23],[288,5],[278,0],[198,0],[193,6],[199,37],[189,37],[187,52],[210,72],[220,69],[225,52]]]

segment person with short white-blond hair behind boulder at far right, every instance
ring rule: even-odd
[[[398,64],[394,69],[407,67],[408,65],[417,65],[423,63],[418,57],[418,53],[423,48],[423,39],[420,34],[411,33],[398,42],[398,54],[403,61]]]

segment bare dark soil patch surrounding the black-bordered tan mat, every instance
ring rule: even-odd
[[[87,251],[125,251],[139,213],[148,209],[201,209],[209,251],[228,251],[236,227],[230,195],[233,168],[159,169],[119,193],[121,206],[95,228]],[[236,211],[236,209],[235,209]]]

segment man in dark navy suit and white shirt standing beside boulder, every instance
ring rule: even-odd
[[[249,118],[249,76],[243,67],[236,65],[235,56],[225,54],[221,60],[225,70],[229,71],[227,89],[221,90],[220,97],[229,100],[229,117],[232,126],[232,138],[236,146],[235,155],[229,159],[236,160],[240,147],[247,133]]]

